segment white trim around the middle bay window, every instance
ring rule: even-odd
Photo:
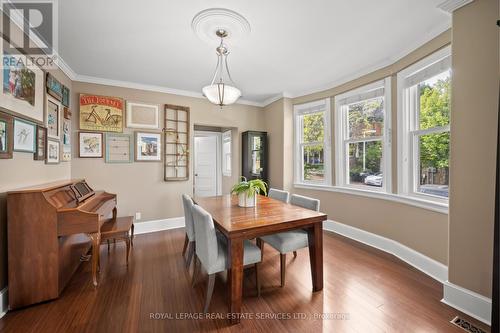
[[[360,100],[367,98],[372,98],[370,96],[371,91],[376,91],[384,88],[384,135],[382,137],[374,138],[374,140],[382,139],[383,149],[382,149],[382,173],[384,175],[383,186],[381,188],[367,188],[366,186],[351,185],[347,183],[348,175],[348,157],[345,154],[345,143],[349,141],[359,141],[359,140],[347,140],[345,139],[345,133],[347,129],[347,117],[345,115],[345,105],[346,102],[352,103],[350,99],[356,95],[362,95]],[[392,165],[391,165],[391,78],[387,77],[383,80],[364,85],[354,90],[350,90],[341,95],[335,96],[335,170],[336,177],[335,183],[337,187],[349,188],[352,190],[368,191],[368,192],[391,192],[392,191]],[[370,141],[371,138],[366,138],[364,141]]]

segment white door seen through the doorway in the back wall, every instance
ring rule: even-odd
[[[219,194],[219,133],[196,134],[194,137],[194,195]]]

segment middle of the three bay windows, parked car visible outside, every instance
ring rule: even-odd
[[[335,97],[337,185],[390,191],[390,79]]]

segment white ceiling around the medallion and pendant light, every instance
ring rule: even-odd
[[[60,0],[59,54],[77,80],[123,81],[198,94],[215,67],[216,45],[191,20],[222,7],[251,33],[229,44],[243,99],[265,104],[387,65],[451,25],[443,0]],[[122,83],[123,83],[122,82]]]

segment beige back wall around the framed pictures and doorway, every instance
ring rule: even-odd
[[[224,190],[237,181],[241,174],[241,133],[247,130],[265,130],[263,109],[247,105],[232,105],[222,111],[205,99],[165,93],[112,87],[88,83],[73,83],[73,127],[78,129],[78,93],[121,97],[146,103],[175,104],[191,108],[191,148],[194,125],[235,127],[233,130],[232,181],[225,181]],[[161,120],[163,119],[163,112]],[[125,128],[125,133],[133,129]],[[77,151],[77,135],[73,135],[73,148]],[[72,176],[85,178],[94,189],[105,189],[118,195],[119,215],[142,213],[142,220],[165,219],[183,215],[182,193],[193,193],[192,158],[189,181],[163,181],[163,163],[134,162],[109,164],[104,159],[83,159],[73,156]]]

